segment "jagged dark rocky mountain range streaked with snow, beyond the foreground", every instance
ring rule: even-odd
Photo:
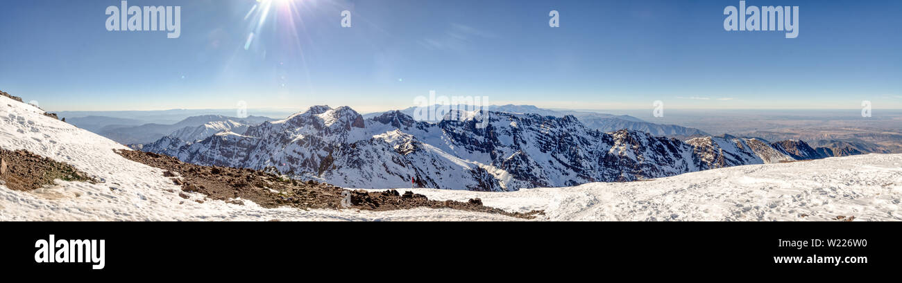
[[[483,112],[480,112],[483,113]],[[746,164],[820,158],[804,142],[696,137],[686,141],[588,128],[572,115],[451,111],[437,123],[402,111],[364,119],[348,107],[311,107],[186,142],[170,135],[143,146],[202,165],[272,170],[348,188],[520,190],[593,181],[637,181]],[[486,125],[481,127],[482,125]]]

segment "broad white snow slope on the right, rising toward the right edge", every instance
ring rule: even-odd
[[[504,193],[414,189],[430,199],[483,199],[555,221],[902,220],[902,155],[854,155]]]

